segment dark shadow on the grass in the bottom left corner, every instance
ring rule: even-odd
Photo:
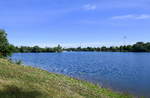
[[[42,94],[38,91],[24,91],[16,86],[5,86],[0,91],[0,98],[39,98]]]

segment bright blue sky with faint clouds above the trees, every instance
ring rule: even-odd
[[[149,0],[0,0],[0,28],[18,46],[147,42],[149,5]]]

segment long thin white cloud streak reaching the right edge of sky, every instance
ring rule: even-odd
[[[129,14],[129,15],[121,15],[121,16],[113,16],[112,19],[150,19],[149,14],[141,14],[141,15],[134,15],[134,14]]]

